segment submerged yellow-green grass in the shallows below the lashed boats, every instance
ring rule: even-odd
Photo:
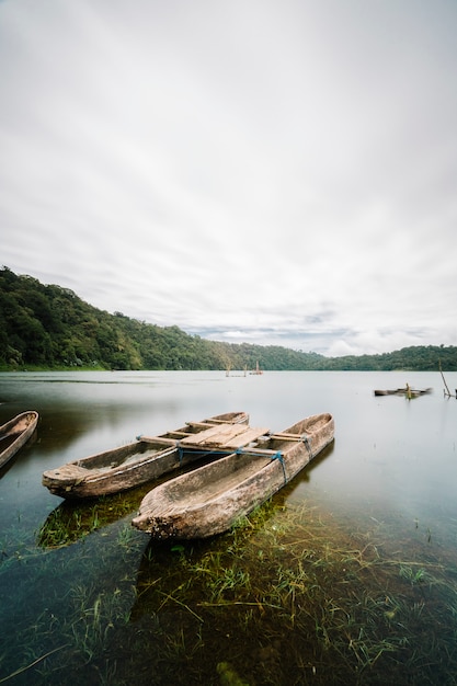
[[[213,540],[147,544],[128,517],[101,528],[104,506],[68,508],[91,533],[75,546],[48,527],[39,575],[59,581],[18,622],[27,648],[18,665],[7,644],[3,681],[456,683],[456,560],[416,527],[276,498]]]

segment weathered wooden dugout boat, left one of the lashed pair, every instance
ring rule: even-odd
[[[248,421],[245,412],[228,412],[160,436],[139,436],[134,443],[45,471],[43,485],[61,498],[94,498],[132,489],[205,455],[191,446],[187,449],[185,438],[195,442],[198,434],[221,426],[242,433]]]

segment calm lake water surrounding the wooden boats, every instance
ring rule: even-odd
[[[407,381],[433,392],[373,395]],[[41,415],[0,472],[0,683],[456,684],[457,400],[438,373],[14,373],[0,403],[0,423]],[[222,536],[134,529],[150,484],[77,504],[41,484],[238,410],[274,431],[331,412],[335,441]]]

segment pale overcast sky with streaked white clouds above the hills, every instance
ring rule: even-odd
[[[455,0],[0,0],[0,266],[230,343],[457,344]]]

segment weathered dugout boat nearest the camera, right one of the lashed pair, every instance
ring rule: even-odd
[[[132,524],[158,539],[221,534],[282,489],[333,437],[333,418],[327,413],[260,436],[149,491]]]

